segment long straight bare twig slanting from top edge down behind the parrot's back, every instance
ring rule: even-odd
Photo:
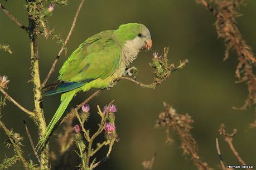
[[[80,5],[79,5],[79,7],[78,7],[78,10],[76,10],[76,14],[75,14],[75,17],[74,17],[72,26],[71,26],[71,28],[70,28],[69,34],[67,35],[67,38],[66,38],[66,40],[65,40],[65,43],[64,43],[63,46],[61,47],[61,49],[60,49],[60,51],[59,51],[59,53],[58,53],[58,55],[57,55],[57,57],[56,57],[54,63],[52,64],[52,67],[51,67],[49,73],[47,74],[47,76],[46,76],[44,82],[42,83],[41,87],[45,87],[45,84],[47,83],[47,81],[48,81],[49,78],[51,77],[51,74],[54,72],[55,67],[56,67],[56,64],[57,64],[57,62],[59,61],[60,55],[61,55],[62,51],[65,49],[66,44],[67,44],[67,42],[69,41],[70,36],[71,36],[71,34],[73,33],[73,31],[74,31],[75,24],[76,24],[76,19],[78,19],[78,15],[79,15],[80,9],[82,8],[83,4],[84,4],[84,0],[82,0],[82,1],[80,2]]]

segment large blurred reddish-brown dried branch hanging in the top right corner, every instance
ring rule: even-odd
[[[236,17],[239,14],[240,4],[243,0],[214,0],[217,10],[212,8],[205,0],[197,0],[200,4],[205,6],[216,17],[216,30],[218,36],[224,39],[226,50],[225,59],[229,57],[229,51],[234,48],[238,54],[238,66],[236,67],[235,76],[238,78],[239,83],[244,82],[247,84],[248,97],[245,100],[244,106],[240,109],[245,109],[250,104],[256,104],[256,58],[253,54],[252,48],[245,42],[241,33],[236,26]]]

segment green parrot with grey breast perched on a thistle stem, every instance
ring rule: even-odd
[[[115,78],[123,76],[141,49],[151,47],[149,30],[139,23],[122,24],[117,30],[100,32],[81,43],[61,67],[59,82],[43,89],[43,96],[62,94],[61,104],[40,138],[37,151],[45,146],[76,93],[91,88],[108,88]]]

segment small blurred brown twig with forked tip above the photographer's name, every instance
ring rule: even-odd
[[[231,151],[233,152],[234,156],[236,157],[236,159],[238,159],[238,161],[245,166],[247,164],[243,161],[243,159],[241,159],[241,157],[239,156],[238,152],[236,151],[236,149],[235,149],[235,147],[233,146],[233,143],[232,143],[233,137],[235,136],[236,132],[237,132],[237,130],[233,129],[233,132],[231,134],[226,133],[224,124],[221,124],[220,129],[219,129],[219,133],[221,135],[223,135],[224,140],[228,143],[228,145],[229,145]]]

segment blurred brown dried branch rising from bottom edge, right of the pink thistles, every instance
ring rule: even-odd
[[[200,170],[210,170],[211,168],[208,166],[206,162],[202,162],[201,158],[197,153],[197,144],[195,139],[192,137],[191,123],[194,120],[188,114],[178,114],[175,109],[169,106],[167,103],[163,103],[165,107],[165,112],[161,112],[156,121],[156,128],[173,128],[173,130],[180,136],[181,139],[181,148],[183,149],[183,153],[187,156],[191,156],[195,165]],[[170,140],[170,139],[169,139]]]

